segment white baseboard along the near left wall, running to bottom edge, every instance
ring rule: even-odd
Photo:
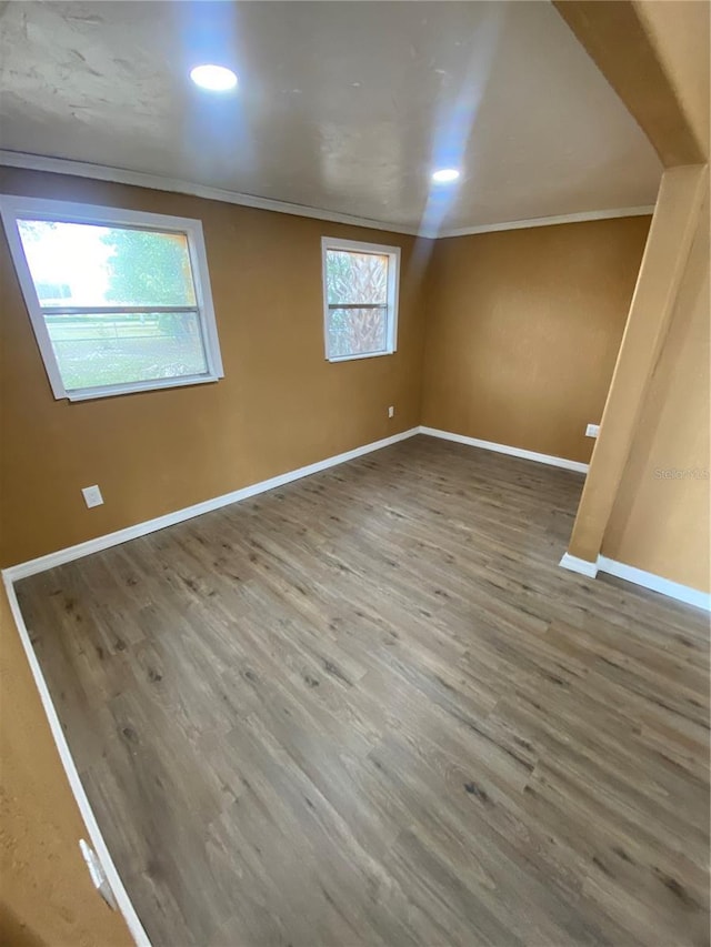
[[[6,578],[4,585],[8,594],[8,600],[10,602],[10,611],[12,613],[12,617],[14,618],[14,624],[17,625],[18,634],[20,635],[20,641],[22,642],[22,647],[24,648],[24,654],[30,665],[32,677],[34,678],[34,684],[40,694],[42,707],[44,708],[44,714],[47,715],[47,719],[49,722],[49,727],[54,739],[54,745],[57,746],[57,750],[59,753],[59,758],[61,759],[62,766],[64,767],[64,773],[67,774],[67,779],[69,782],[70,789],[74,799],[77,800],[77,805],[79,807],[79,812],[81,813],[81,817],[84,822],[84,825],[87,826],[87,832],[89,833],[89,837],[91,838],[93,849],[97,853],[97,856],[101,863],[101,867],[104,870],[113,896],[116,898],[118,908],[123,915],[123,919],[126,920],[126,924],[129,928],[129,931],[131,933],[131,936],[133,937],[133,940],[136,941],[138,947],[151,947],[151,941],[148,939],[148,935],[143,929],[143,925],[139,920],[136,909],[131,904],[131,899],[129,898],[128,893],[123,887],[123,883],[121,881],[119,873],[117,872],[116,865],[113,864],[113,859],[111,858],[109,849],[107,848],[107,844],[103,840],[103,836],[101,834],[101,829],[99,828],[99,824],[97,823],[97,818],[91,809],[89,799],[87,798],[84,787],[81,785],[81,779],[79,778],[79,773],[77,772],[77,766],[69,749],[69,745],[67,743],[62,725],[59,722],[57,711],[54,709],[54,705],[52,704],[52,698],[50,696],[49,688],[47,687],[44,675],[42,674],[42,671],[40,668],[37,655],[34,654],[34,648],[32,647],[32,642],[30,641],[30,635],[27,629],[27,625],[24,624],[24,618],[22,617],[22,613],[20,612],[20,606],[18,604],[18,598],[14,593],[12,582]]]

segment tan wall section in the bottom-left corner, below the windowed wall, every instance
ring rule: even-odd
[[[129,947],[79,853],[87,838],[0,588],[0,944]]]

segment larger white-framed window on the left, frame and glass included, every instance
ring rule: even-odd
[[[0,213],[54,397],[222,377],[200,221],[8,195]]]

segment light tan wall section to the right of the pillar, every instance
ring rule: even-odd
[[[602,553],[711,591],[709,199],[650,380]],[[679,471],[668,477],[664,472]]]

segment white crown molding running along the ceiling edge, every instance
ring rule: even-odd
[[[74,178],[89,178],[94,181],[111,181],[116,184],[130,184],[134,188],[149,188],[153,191],[169,191],[176,194],[189,194],[204,198],[209,201],[221,201],[228,204],[239,204],[244,208],[256,208],[274,213],[306,216],[332,223],[347,223],[351,226],[362,226],[369,230],[382,230],[389,233],[402,233],[408,236],[422,236],[439,240],[451,236],[469,236],[475,233],[493,233],[500,230],[523,230],[534,226],[553,226],[559,223],[583,223],[591,220],[612,220],[621,216],[647,216],[654,211],[654,205],[637,208],[612,208],[602,211],[581,211],[572,214],[555,216],[531,218],[530,220],[502,221],[484,223],[477,226],[461,226],[439,232],[427,232],[417,226],[385,223],[370,220],[356,214],[339,213],[307,204],[292,204],[289,201],[276,201],[270,198],[258,198],[253,194],[241,194],[224,188],[211,188],[207,184],[196,184],[178,178],[166,178],[162,174],[149,174],[144,171],[128,171],[124,168],[110,168],[106,164],[92,164],[87,161],[73,161],[69,158],[48,158],[43,154],[29,154],[24,151],[7,151],[0,149],[0,165],[22,168],[28,171],[44,171],[50,174],[70,174]]]

